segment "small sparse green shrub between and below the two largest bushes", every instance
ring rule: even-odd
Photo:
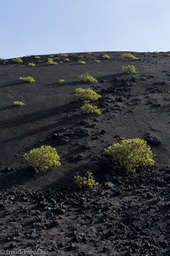
[[[99,186],[99,183],[96,182],[93,173],[89,171],[86,172],[86,175],[84,177],[82,177],[81,175],[76,175],[74,179],[77,186],[81,189],[82,187],[93,189]]]

